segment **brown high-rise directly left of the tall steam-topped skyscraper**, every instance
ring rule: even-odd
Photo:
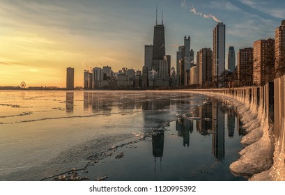
[[[203,48],[197,52],[198,84],[208,87],[212,82],[213,52],[210,48]]]

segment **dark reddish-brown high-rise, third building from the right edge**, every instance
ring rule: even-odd
[[[238,81],[240,86],[251,86],[253,78],[254,48],[247,47],[238,52]]]

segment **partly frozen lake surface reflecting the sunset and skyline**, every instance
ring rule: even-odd
[[[229,170],[239,125],[233,108],[178,91],[0,91],[0,180],[42,180],[89,160],[90,180],[245,180]]]

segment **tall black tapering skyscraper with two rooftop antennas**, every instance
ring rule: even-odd
[[[164,39],[163,13],[162,13],[162,24],[157,24],[157,10],[156,10],[156,24],[153,33],[153,63],[152,63],[152,68],[155,71],[159,69],[159,61],[163,60],[164,56],[165,56],[165,39]]]

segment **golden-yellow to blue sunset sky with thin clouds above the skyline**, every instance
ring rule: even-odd
[[[75,68],[75,86],[84,70],[109,65],[141,70],[144,45],[153,44],[155,9],[162,20],[166,54],[190,36],[194,61],[199,49],[213,48],[217,21],[226,24],[226,53],[274,38],[285,20],[284,0],[1,0],[0,86],[66,86],[66,68]]]

